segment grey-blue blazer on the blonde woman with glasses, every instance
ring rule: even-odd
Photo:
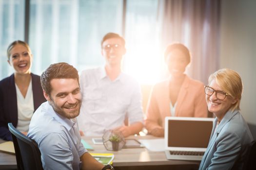
[[[253,136],[238,110],[228,111],[217,126],[215,119],[199,170],[241,170]]]

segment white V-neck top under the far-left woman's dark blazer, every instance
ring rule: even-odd
[[[30,120],[34,113],[34,99],[32,92],[32,79],[28,85],[25,98],[20,92],[19,87],[15,84],[17,94],[17,107],[18,107],[18,124],[17,129],[21,132],[27,132]]]

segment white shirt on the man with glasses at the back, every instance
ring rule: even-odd
[[[102,136],[106,130],[143,123],[140,86],[135,79],[120,73],[111,81],[104,68],[81,72],[82,105],[78,117],[79,129],[85,136]]]

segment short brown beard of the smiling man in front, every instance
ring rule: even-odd
[[[58,113],[61,116],[64,116],[67,119],[73,119],[76,118],[80,113],[81,108],[81,101],[77,100],[74,104],[63,104],[61,107],[57,106],[53,100],[50,101],[51,106],[53,107],[53,110]],[[77,105],[77,106],[75,106]],[[78,107],[78,109],[72,111],[72,112],[65,112],[64,108],[72,108],[73,106]]]

